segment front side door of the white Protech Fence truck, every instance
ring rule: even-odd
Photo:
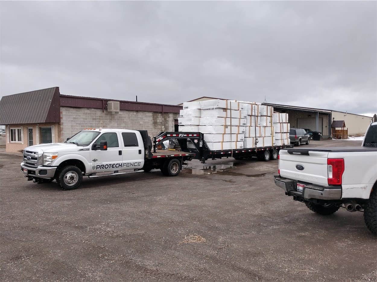
[[[107,141],[107,150],[93,150],[93,146],[91,146],[92,173],[121,170],[123,156],[119,133],[104,132],[98,136],[94,143],[100,144],[100,141]]]

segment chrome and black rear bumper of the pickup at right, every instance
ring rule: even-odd
[[[274,176],[275,185],[282,188],[288,196],[301,197],[304,199],[320,200],[340,200],[342,199],[342,188],[339,187],[322,187],[313,184],[305,184],[303,191],[297,191],[297,182],[291,179]]]

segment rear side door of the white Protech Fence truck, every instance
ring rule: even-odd
[[[121,131],[123,145],[123,169],[143,168],[144,144],[139,132]]]

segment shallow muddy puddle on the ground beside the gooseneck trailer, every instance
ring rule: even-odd
[[[203,168],[185,168],[182,173],[187,174],[219,174],[228,176],[246,176],[246,177],[262,177],[266,173],[245,174],[234,171],[234,168],[242,165],[241,163],[221,164],[221,165],[203,165]]]

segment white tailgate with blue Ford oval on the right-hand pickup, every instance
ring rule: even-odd
[[[279,152],[280,176],[289,179],[328,186],[328,152],[307,149],[282,149]]]

